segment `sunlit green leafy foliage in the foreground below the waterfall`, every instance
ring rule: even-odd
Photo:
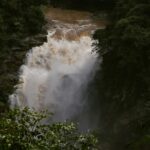
[[[81,134],[74,123],[46,122],[47,112],[14,109],[0,120],[1,150],[96,150],[94,135]]]

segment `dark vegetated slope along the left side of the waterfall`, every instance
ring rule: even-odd
[[[42,4],[46,4],[46,0],[0,2],[0,111],[16,84],[18,68],[26,51],[42,39],[41,36],[33,37],[43,33]]]

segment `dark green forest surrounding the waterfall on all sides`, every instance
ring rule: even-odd
[[[93,35],[103,61],[87,93],[99,114],[96,133],[79,133],[74,123],[41,125],[45,112],[9,108],[27,50],[46,41],[49,5],[108,14],[106,28]],[[1,150],[150,149],[149,0],[1,0],[0,47]]]

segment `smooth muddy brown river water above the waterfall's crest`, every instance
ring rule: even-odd
[[[61,8],[47,8],[45,11],[45,17],[48,22],[51,20],[59,20],[65,23],[91,23],[97,25],[99,28],[105,28],[106,20],[97,20],[91,12],[87,11],[76,11],[76,10],[66,10]],[[84,20],[84,22],[82,22]]]

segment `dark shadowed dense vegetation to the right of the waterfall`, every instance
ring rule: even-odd
[[[109,149],[150,149],[150,1],[118,0],[99,30],[103,58],[92,99]],[[93,98],[94,97],[94,98]],[[98,106],[99,105],[99,106]]]

